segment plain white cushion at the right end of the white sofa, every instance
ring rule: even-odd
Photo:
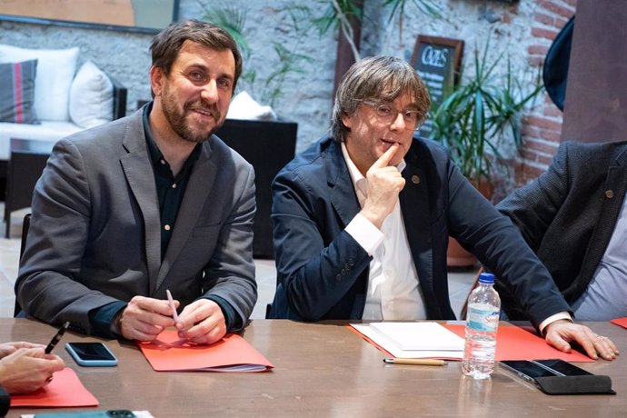
[[[78,70],[70,86],[70,119],[84,128],[114,118],[114,85],[91,61]]]

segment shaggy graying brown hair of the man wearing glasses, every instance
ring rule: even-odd
[[[413,96],[414,110],[418,111],[418,124],[423,124],[431,99],[420,75],[412,65],[395,56],[363,58],[348,69],[335,94],[331,135],[344,141],[350,129],[342,118],[351,115],[363,102],[393,102],[399,95],[409,92]]]

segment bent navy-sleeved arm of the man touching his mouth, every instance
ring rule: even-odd
[[[321,319],[337,304],[372,258],[346,230],[323,236],[319,224],[336,214],[316,206],[318,197],[294,173],[284,172],[274,180],[277,280],[290,308],[305,321]]]

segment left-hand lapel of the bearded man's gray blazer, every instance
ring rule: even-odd
[[[122,164],[126,181],[144,217],[145,253],[150,285],[148,294],[152,294],[159,264],[161,264],[161,220],[153,167],[150,164],[146,149],[142,113],[138,112],[137,114],[137,120],[131,127],[129,134],[124,137],[124,147],[128,154],[120,157],[120,164]]]

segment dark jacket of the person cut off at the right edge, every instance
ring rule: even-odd
[[[497,208],[518,225],[569,304],[575,302],[610,242],[627,190],[627,142],[564,142],[546,173]],[[503,310],[522,316],[511,289],[497,281]]]

